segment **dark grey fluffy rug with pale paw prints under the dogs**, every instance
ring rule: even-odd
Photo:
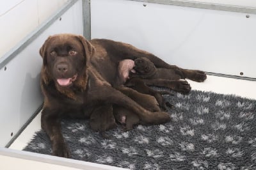
[[[256,169],[256,101],[191,91],[165,95],[174,105],[164,125],[122,127],[102,139],[88,120],[63,120],[72,158],[129,169]],[[24,149],[51,154],[45,132]]]

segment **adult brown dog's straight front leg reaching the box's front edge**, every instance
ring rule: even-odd
[[[58,114],[58,111],[44,108],[41,116],[41,126],[51,139],[52,155],[70,158],[70,150],[63,139]]]

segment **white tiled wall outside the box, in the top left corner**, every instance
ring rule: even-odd
[[[67,1],[0,1],[0,58]]]

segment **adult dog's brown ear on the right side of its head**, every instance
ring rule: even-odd
[[[77,38],[83,45],[86,63],[89,63],[90,58],[92,58],[95,53],[95,48],[93,47],[92,43],[88,42],[88,40],[84,38],[84,36],[77,35]]]

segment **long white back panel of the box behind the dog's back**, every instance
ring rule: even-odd
[[[256,15],[92,0],[92,38],[131,43],[182,68],[256,77]]]

